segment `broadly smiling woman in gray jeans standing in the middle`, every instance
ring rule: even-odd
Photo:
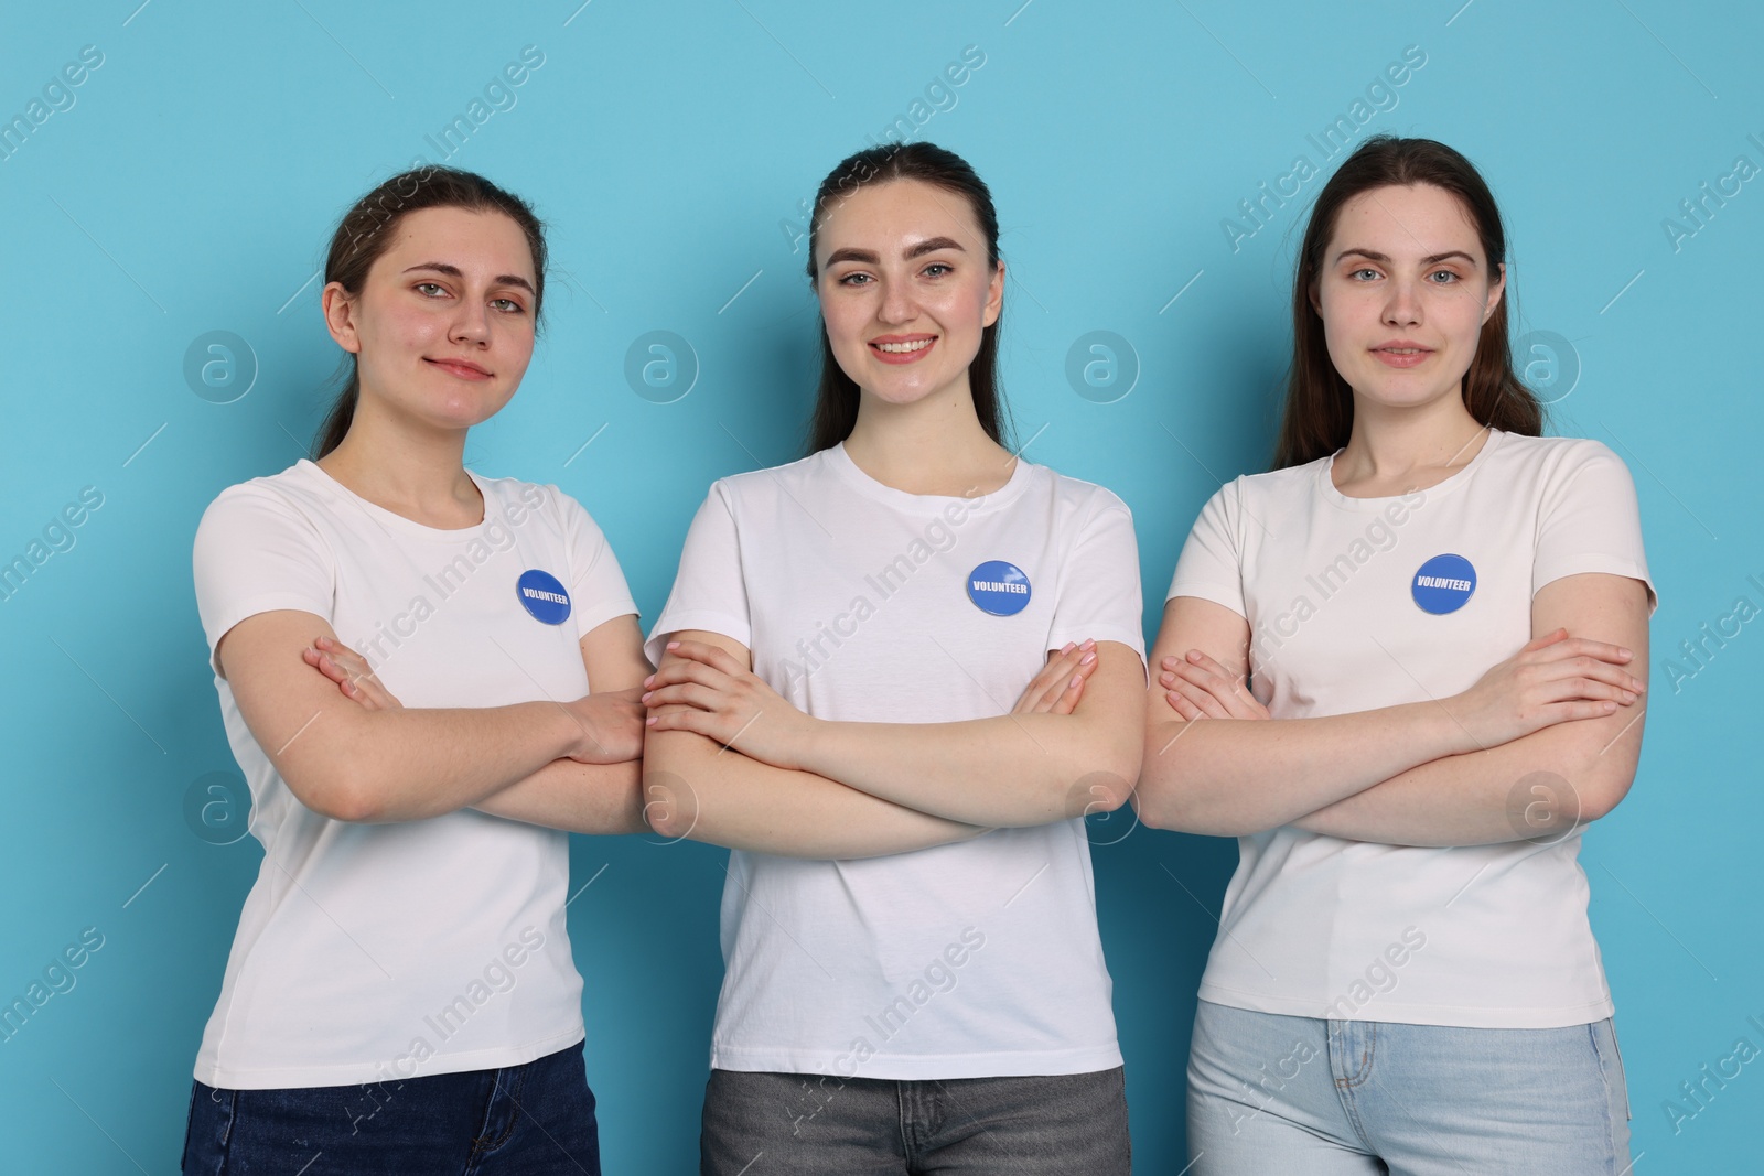
[[[961,159],[841,162],[810,277],[811,453],[711,487],[649,638],[646,815],[734,848],[702,1171],[1125,1174],[1083,813],[1140,769],[1132,518],[1002,441]]]

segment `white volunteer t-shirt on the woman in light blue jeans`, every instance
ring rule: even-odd
[[[1332,462],[1221,488],[1170,585],[1249,621],[1252,688],[1277,719],[1446,698],[1531,640],[1551,580],[1648,582],[1635,487],[1596,441],[1491,430],[1464,469],[1401,497],[1346,497]],[[1415,1024],[1600,1021],[1579,846],[1240,837],[1200,996]]]

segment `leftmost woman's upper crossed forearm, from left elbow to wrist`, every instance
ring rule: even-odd
[[[339,696],[272,758],[295,793],[326,816],[402,822],[476,804],[579,739],[577,719],[550,702],[362,711]]]

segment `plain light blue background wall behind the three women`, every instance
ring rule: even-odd
[[[425,136],[529,44],[545,63],[517,106],[448,160],[531,197],[556,250],[549,331],[519,397],[475,432],[475,469],[579,497],[651,619],[707,483],[797,453],[817,361],[799,201],[979,46],[984,65],[917,138],[993,187],[1018,435],[1132,506],[1148,628],[1200,504],[1265,467],[1291,245],[1319,180],[1237,252],[1221,220],[1295,155],[1323,162],[1307,136],[1420,46],[1425,65],[1357,138],[1425,134],[1484,167],[1514,242],[1515,335],[1572,340],[1526,354],[1552,397],[1579,368],[1554,430],[1630,462],[1662,598],[1641,774],[1582,855],[1635,1171],[1759,1164],[1764,1061],[1709,1084],[1679,1132],[1662,1109],[1736,1038],[1764,1047],[1746,1021],[1764,1021],[1764,622],[1678,691],[1665,674],[1738,596],[1764,605],[1746,580],[1764,584],[1764,182],[1678,249],[1662,227],[1736,155],[1764,164],[1746,138],[1764,139],[1757,5],[138,2],[0,18],[0,116],[25,113],[81,46],[104,53],[76,104],[0,160],[0,559],[81,487],[104,494],[72,550],[0,603],[0,1000],[79,929],[106,940],[78,987],[0,1044],[0,1165],[176,1169],[191,1063],[259,860],[254,841],[208,845],[183,818],[192,781],[233,770],[191,592],[196,520],[222,487],[300,457],[330,402],[337,349],[309,279],[335,217],[436,159]],[[183,377],[212,330],[259,365],[231,404]],[[651,330],[684,337],[700,365],[674,404],[623,374]],[[1065,376],[1097,330],[1138,363],[1111,404]],[[605,867],[570,929],[612,1172],[695,1171],[721,857],[573,843],[577,885]],[[1226,841],[1147,830],[1095,852],[1143,1172],[1182,1167],[1194,987],[1233,862]]]

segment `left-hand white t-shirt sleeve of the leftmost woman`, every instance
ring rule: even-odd
[[[228,631],[259,612],[298,608],[332,621],[337,562],[312,520],[275,490],[228,487],[203,511],[191,555],[196,612],[215,647]]]

